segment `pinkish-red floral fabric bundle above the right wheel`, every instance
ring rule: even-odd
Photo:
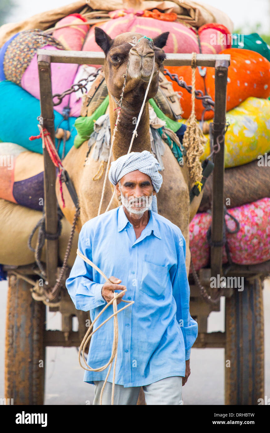
[[[265,197],[253,203],[227,209],[239,222],[237,233],[226,232],[231,259],[238,265],[254,265],[270,260],[270,198]],[[211,214],[196,213],[189,225],[189,246],[195,269],[205,267],[210,259],[207,231],[211,225]],[[234,231],[236,223],[225,215],[228,229]],[[223,247],[223,263],[228,258]],[[190,270],[191,272],[191,270]]]

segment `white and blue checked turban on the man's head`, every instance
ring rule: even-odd
[[[113,161],[109,170],[110,182],[116,185],[125,174],[135,170],[148,174],[152,180],[155,191],[159,192],[163,181],[162,175],[159,173],[161,166],[148,150],[143,150],[143,152],[130,152],[128,155],[120,156],[116,161]],[[153,195],[152,198],[152,210],[153,212],[157,212],[155,195]]]

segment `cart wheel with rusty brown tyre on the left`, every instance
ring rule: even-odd
[[[46,306],[34,301],[31,287],[21,278],[9,278],[5,398],[16,405],[43,404],[44,399]]]

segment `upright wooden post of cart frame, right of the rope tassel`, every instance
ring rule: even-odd
[[[214,144],[222,134],[226,123],[228,60],[215,63],[215,115],[213,125]],[[222,275],[222,239],[224,221],[224,139],[220,139],[220,151],[214,154],[211,240],[219,246],[211,246],[211,277]]]

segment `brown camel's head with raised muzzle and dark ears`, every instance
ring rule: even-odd
[[[143,37],[141,33],[122,33],[111,39],[102,29],[95,28],[95,40],[105,54],[104,74],[109,93],[117,100],[120,99],[124,83],[123,75],[129,68],[124,98],[134,103],[134,96],[141,100],[155,61],[155,69],[150,84],[147,100],[153,98],[158,90],[159,70],[166,54],[163,47],[166,45],[169,32],[162,33],[153,39],[153,42]]]

